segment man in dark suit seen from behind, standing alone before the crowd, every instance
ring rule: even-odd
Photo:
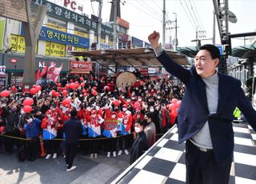
[[[70,120],[67,120],[63,126],[63,131],[66,135],[66,171],[71,171],[76,168],[76,166],[73,166],[74,156],[78,147],[79,136],[82,134],[82,123],[76,118],[77,114],[77,110],[71,110]]]

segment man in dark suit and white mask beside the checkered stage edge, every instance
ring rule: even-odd
[[[144,127],[146,126],[146,122],[141,119],[138,119],[134,123],[134,130],[137,134],[133,145],[130,149],[130,164],[135,162],[144,152],[148,149],[146,134],[144,132]]]

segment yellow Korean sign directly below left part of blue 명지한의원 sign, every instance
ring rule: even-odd
[[[66,46],[59,43],[46,42],[45,54],[51,56],[65,57]]]

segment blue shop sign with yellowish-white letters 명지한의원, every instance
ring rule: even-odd
[[[82,48],[89,48],[90,46],[89,38],[83,38],[74,34],[68,34],[44,26],[42,26],[42,30],[38,39],[48,42],[57,42],[68,46],[78,46]]]

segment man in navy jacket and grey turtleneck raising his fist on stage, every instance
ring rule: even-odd
[[[233,111],[236,106],[256,130],[256,112],[238,79],[218,73],[220,54],[201,46],[190,70],[174,62],[159,46],[160,34],[149,35],[158,61],[186,86],[178,110],[178,142],[186,141],[187,183],[228,183],[234,152]]]

